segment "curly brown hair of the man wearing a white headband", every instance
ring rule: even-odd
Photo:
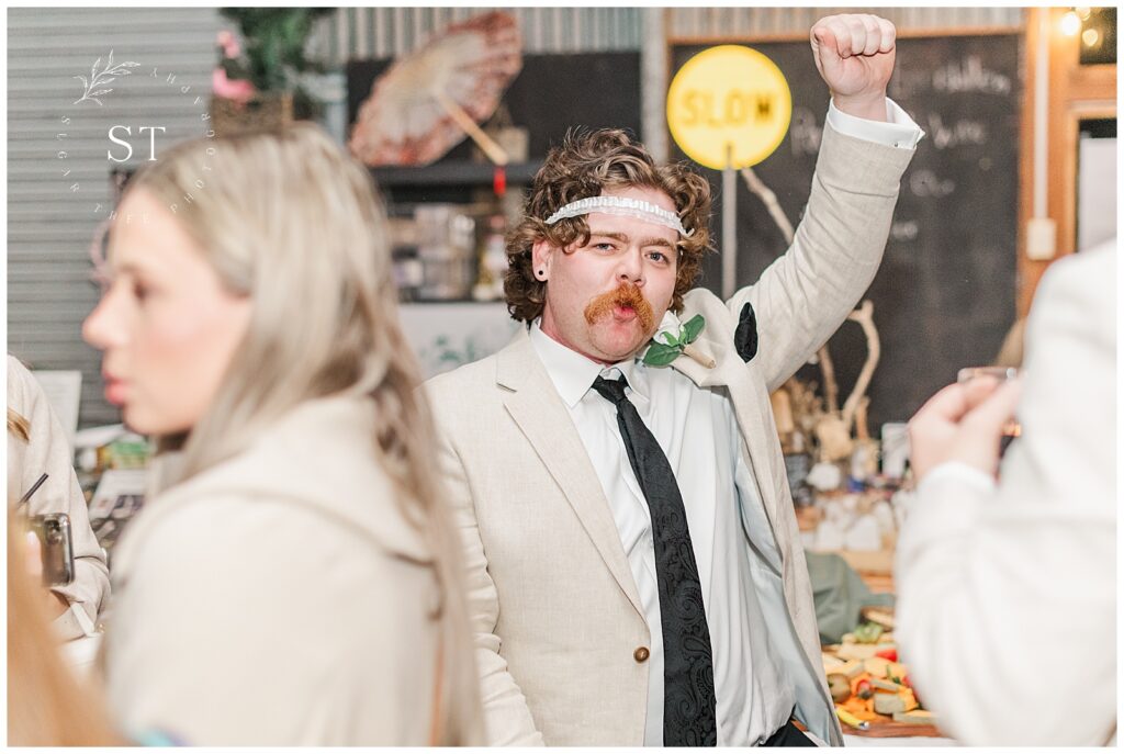
[[[597,197],[605,189],[638,187],[662,191],[676,205],[685,228],[694,228],[689,238],[679,240],[676,290],[672,311],[683,307],[683,293],[698,278],[703,257],[710,246],[710,184],[687,163],[656,166],[643,144],[627,131],[602,128],[595,131],[570,130],[562,145],[546,155],[535,174],[531,194],[523,209],[523,221],[507,236],[508,270],[504,278],[507,309],[514,319],[532,321],[543,312],[546,282],[535,278],[531,249],[546,239],[565,248],[575,240],[589,243],[589,224],[583,215],[546,225],[546,218],[571,201]]]

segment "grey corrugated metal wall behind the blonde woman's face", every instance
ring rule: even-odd
[[[142,125],[167,129],[157,154],[165,136],[202,135],[207,108],[194,98],[209,97],[218,28],[214,9],[8,10],[8,351],[35,369],[82,371],[80,426],[119,420],[101,394],[99,354],[81,336],[98,301],[89,245],[111,196],[107,147],[125,153],[109,142],[109,128],[132,127],[134,165],[148,156]],[[74,76],[89,81],[110,51],[115,64],[138,65],[100,87],[114,90],[98,98],[101,106],[75,105],[83,85]]]

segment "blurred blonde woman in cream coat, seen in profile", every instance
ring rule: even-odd
[[[480,743],[459,549],[366,172],[310,125],[181,145],[137,174],[109,238],[84,336],[163,452],[115,551],[126,734]]]

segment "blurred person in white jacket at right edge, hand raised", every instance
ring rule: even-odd
[[[1115,240],[1043,278],[1024,369],[950,385],[910,421],[896,634],[963,744],[1115,743]]]

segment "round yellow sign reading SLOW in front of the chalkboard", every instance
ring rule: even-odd
[[[687,156],[714,170],[750,167],[773,153],[792,117],[785,74],[755,49],[720,45],[679,69],[668,127]]]

